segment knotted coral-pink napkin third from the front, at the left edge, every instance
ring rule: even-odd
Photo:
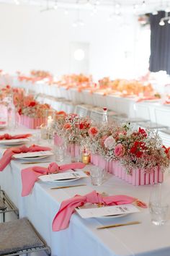
[[[9,148],[5,150],[4,155],[0,159],[0,171],[3,171],[4,168],[10,163],[10,161],[12,160],[12,155],[14,154],[36,152],[36,151],[47,151],[47,150],[51,150],[51,148],[41,147],[38,145],[32,145],[29,148],[26,146],[22,146],[19,148]]]

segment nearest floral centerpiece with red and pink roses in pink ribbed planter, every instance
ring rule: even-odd
[[[162,146],[160,137],[130,124],[90,127],[84,143],[91,149],[92,163],[133,184],[161,182],[170,164],[170,148]]]

